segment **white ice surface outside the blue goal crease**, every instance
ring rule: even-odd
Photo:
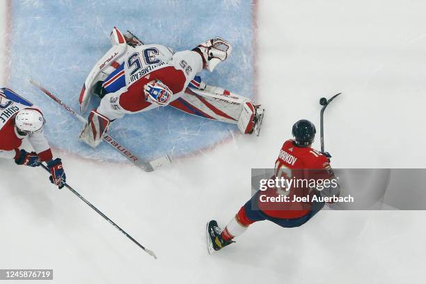
[[[146,2],[144,10],[161,10],[156,1]],[[145,255],[69,191],[48,184],[42,169],[2,160],[0,268],[54,269],[55,283],[422,283],[423,211],[326,210],[292,229],[255,223],[236,239],[237,244],[207,255],[206,221],[214,218],[224,225],[248,200],[250,168],[274,166],[296,120],[307,118],[319,124],[319,97],[344,92],[325,118],[326,150],[333,155],[334,167],[424,168],[426,154],[418,147],[426,139],[426,3],[344,2],[258,1],[257,88],[267,111],[260,137],[235,134],[212,150],[177,159],[153,173],[55,152],[63,159],[68,182],[155,251],[158,260]],[[57,3],[71,5],[71,1]],[[95,10],[95,1],[90,3]],[[219,6],[246,3],[221,1]],[[181,5],[180,1],[168,4]],[[70,10],[67,15],[77,17],[76,12]],[[87,13],[81,7],[83,12]],[[233,27],[223,19],[195,32],[189,23],[200,15],[196,9],[185,15],[175,29],[196,38],[175,42],[175,33],[164,33],[162,42],[189,48],[213,34],[205,31],[207,27],[214,34],[232,33]],[[113,23],[98,17],[98,22],[108,23],[97,27],[104,35],[92,35],[93,28],[88,26],[87,38],[102,38],[106,47],[105,36]],[[251,29],[251,13],[238,22],[247,22]],[[132,23],[127,22],[127,27],[132,28]],[[49,45],[56,45],[54,38],[50,40]],[[40,42],[23,44],[31,54],[31,47]],[[238,54],[246,45],[234,47]],[[71,51],[63,52],[69,56]],[[97,57],[101,50],[93,54]],[[74,56],[80,61],[92,58],[78,52]],[[15,63],[19,58],[13,59]],[[221,76],[250,76],[242,58],[233,60],[235,66],[243,66],[242,71],[226,69],[224,63],[218,67],[226,72]],[[59,70],[56,74],[52,63],[47,65],[50,77],[43,83],[58,84],[56,75],[61,79],[64,75]],[[24,76],[29,70],[22,72]],[[37,76],[47,76],[42,72]],[[66,92],[79,88],[86,73],[78,73],[78,82],[66,80],[70,84]],[[21,90],[17,84],[21,74],[11,74],[15,76],[12,87]],[[213,79],[221,82],[217,76]],[[23,92],[29,90],[22,86]],[[60,84],[55,90],[60,90]],[[319,148],[319,139],[315,147]]]

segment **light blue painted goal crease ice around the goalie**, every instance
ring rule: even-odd
[[[81,86],[97,60],[111,47],[113,26],[135,33],[143,42],[175,51],[192,49],[221,36],[234,49],[207,84],[253,97],[253,27],[251,1],[12,1],[13,20],[8,87],[38,105],[45,114],[46,134],[55,148],[84,157],[125,161],[109,145],[97,150],[79,142],[81,123],[25,79],[33,77],[72,109],[79,110]],[[153,17],[152,15],[155,15]],[[94,98],[91,108],[97,107]],[[161,123],[158,123],[161,121]],[[125,116],[111,124],[111,136],[145,159],[172,157],[208,148],[236,132],[235,125],[207,120],[164,107]]]

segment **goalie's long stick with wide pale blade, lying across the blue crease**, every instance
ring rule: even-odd
[[[71,113],[73,116],[75,116],[78,120],[80,120],[82,123],[86,123],[86,120],[80,116],[78,113],[73,111],[70,107],[68,107],[64,102],[59,100],[57,97],[55,97],[52,93],[49,92],[49,90],[45,89],[43,86],[38,84],[33,79],[29,79],[29,82],[41,90],[43,93],[45,93],[47,96],[49,96],[52,100],[54,100],[57,104],[59,104],[63,109]],[[129,161],[131,161],[135,166],[138,166],[139,168],[142,168],[143,171],[154,171],[155,168],[158,168],[159,166],[162,166],[164,164],[170,164],[171,159],[168,156],[159,157],[157,159],[154,159],[152,161],[143,161],[139,157],[133,154],[132,151],[125,148],[123,145],[118,143],[116,139],[113,139],[109,134],[105,134],[103,136],[103,140],[107,142],[109,145],[111,145],[116,151],[120,152],[121,155],[126,157]]]

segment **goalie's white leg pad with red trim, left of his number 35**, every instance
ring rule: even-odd
[[[93,85],[96,84],[97,81],[105,79],[114,70],[114,68],[117,67],[117,65],[120,65],[120,61],[123,61],[123,58],[120,57],[125,54],[127,49],[123,34],[120,33],[117,28],[114,28],[111,33],[111,37],[117,38],[118,43],[113,45],[113,47],[111,47],[111,49],[109,49],[109,51],[102,56],[99,61],[97,61],[88,74],[86,81],[84,81],[83,88],[81,88],[79,102],[80,111],[83,113],[87,111],[90,98],[93,95]],[[120,42],[120,37],[123,38],[122,42]]]

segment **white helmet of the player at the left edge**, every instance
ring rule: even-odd
[[[36,109],[22,109],[15,116],[15,127],[21,135],[42,132],[45,118]]]

